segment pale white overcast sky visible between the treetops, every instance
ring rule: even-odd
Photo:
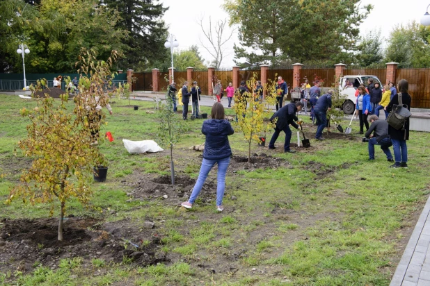
[[[164,14],[164,21],[169,26],[169,33],[176,36],[180,46],[177,49],[188,49],[197,45],[202,58],[211,60],[205,47],[210,47],[199,26],[199,19],[203,17],[205,28],[209,27],[209,16],[212,24],[218,20],[228,19],[227,13],[221,8],[223,0],[161,0],[165,7],[170,7]],[[362,0],[362,5],[372,3],[372,12],[360,25],[360,34],[366,35],[374,29],[381,28],[381,37],[388,41],[390,31],[397,24],[406,24],[420,18],[426,12],[430,0]],[[228,27],[225,34],[231,33],[234,27]],[[237,32],[233,31],[232,38],[225,44],[225,57],[221,67],[234,65],[233,44],[239,44]],[[207,62],[205,62],[207,64]]]

